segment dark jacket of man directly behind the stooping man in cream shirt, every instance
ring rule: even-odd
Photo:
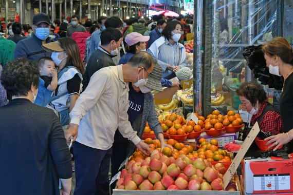
[[[108,66],[116,66],[112,57],[116,55],[111,55],[103,48],[99,47],[94,53],[92,53],[88,59],[84,74],[82,76],[82,91],[87,87],[90,77],[100,70]]]

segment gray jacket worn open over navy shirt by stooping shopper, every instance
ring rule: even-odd
[[[137,131],[139,138],[142,136],[147,121],[150,128],[154,130],[156,138],[158,138],[158,134],[163,133],[163,130],[155,110],[154,97],[152,93],[144,94],[143,111],[132,124],[132,128]],[[136,146],[132,142],[129,142],[127,148],[127,158],[129,158],[135,150]]]

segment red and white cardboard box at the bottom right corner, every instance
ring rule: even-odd
[[[271,161],[270,158],[242,161],[242,179],[247,194],[293,194],[293,160]]]

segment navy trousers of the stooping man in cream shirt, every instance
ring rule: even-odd
[[[76,195],[109,195],[109,166],[112,148],[100,150],[74,142]]]

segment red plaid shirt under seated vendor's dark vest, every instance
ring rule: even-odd
[[[250,125],[253,126],[257,122],[267,105],[267,101],[263,102],[257,114],[251,117]],[[260,129],[264,132],[271,132],[272,134],[279,134],[282,129],[281,115],[275,111],[267,111],[263,116],[260,124]]]

